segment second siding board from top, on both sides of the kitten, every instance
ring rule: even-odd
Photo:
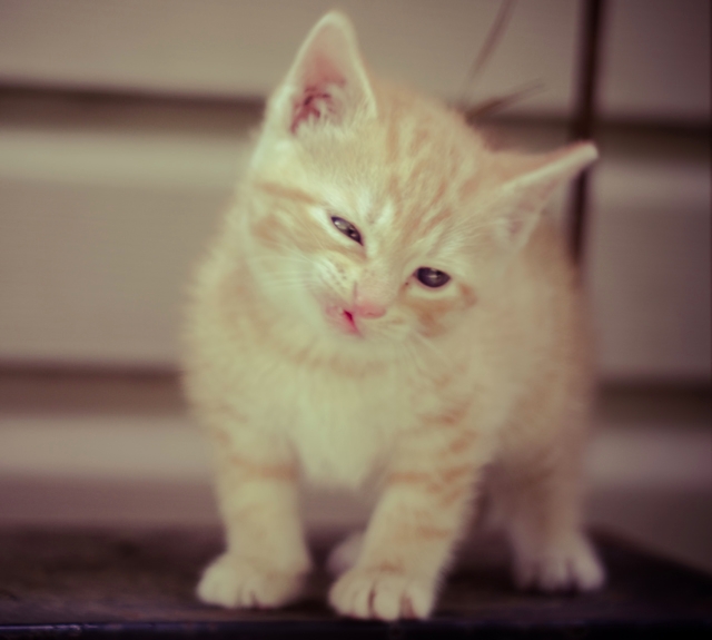
[[[154,106],[141,122],[132,108],[30,107],[18,106],[24,119],[6,110],[0,127],[0,362],[175,366],[186,280],[256,112],[161,119]],[[562,134],[502,124],[497,137],[542,149]],[[586,276],[603,375],[709,376],[709,144],[604,130],[592,187]]]

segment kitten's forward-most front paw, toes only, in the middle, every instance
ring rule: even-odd
[[[435,582],[396,571],[357,568],[332,587],[329,602],[352,618],[427,618],[435,602]]]

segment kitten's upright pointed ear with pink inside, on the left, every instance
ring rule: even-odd
[[[349,19],[332,11],[312,29],[287,78],[273,96],[267,121],[297,134],[309,121],[344,124],[376,115],[376,99]]]

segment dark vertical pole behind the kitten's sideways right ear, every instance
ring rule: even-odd
[[[572,140],[592,139],[596,120],[596,89],[601,58],[601,31],[605,0],[584,0],[578,68],[576,70],[576,96],[568,136]],[[589,176],[586,170],[574,183],[571,203],[571,250],[574,259],[583,257],[586,230]]]

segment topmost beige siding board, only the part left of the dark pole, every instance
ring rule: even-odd
[[[498,2],[345,0],[365,56],[393,79],[458,97]],[[265,97],[332,0],[4,0],[0,81]],[[566,110],[578,2],[520,2],[479,85],[541,82],[527,108]]]

